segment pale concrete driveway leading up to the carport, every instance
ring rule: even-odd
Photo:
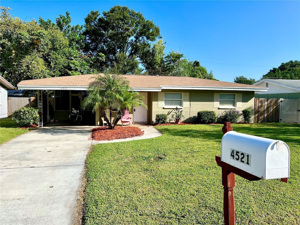
[[[0,146],[1,224],[73,224],[91,128],[39,128]]]

